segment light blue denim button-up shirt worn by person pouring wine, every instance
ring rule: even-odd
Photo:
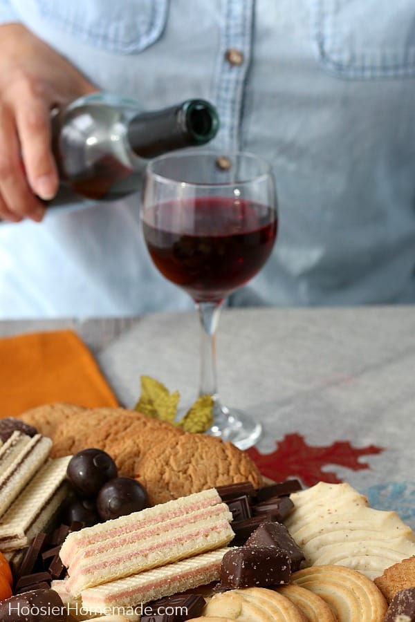
[[[214,146],[270,160],[277,243],[231,304],[415,301],[412,0],[0,0],[16,20],[147,109],[211,100]],[[191,307],[149,260],[138,196],[0,225],[0,317]]]

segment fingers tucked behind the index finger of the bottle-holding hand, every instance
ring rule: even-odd
[[[30,189],[21,164],[20,146],[12,115],[0,106],[0,218],[19,222],[42,220],[44,206]]]

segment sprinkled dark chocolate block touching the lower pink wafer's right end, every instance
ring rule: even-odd
[[[290,558],[276,547],[239,547],[225,553],[221,563],[221,587],[268,587],[288,583]]]

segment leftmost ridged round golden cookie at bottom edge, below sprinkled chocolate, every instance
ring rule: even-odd
[[[293,602],[265,587],[214,594],[202,613],[208,621],[224,616],[241,622],[307,622]]]

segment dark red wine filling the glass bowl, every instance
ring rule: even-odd
[[[166,279],[196,302],[221,301],[266,263],[277,216],[271,207],[248,200],[198,197],[147,209],[143,232]]]

